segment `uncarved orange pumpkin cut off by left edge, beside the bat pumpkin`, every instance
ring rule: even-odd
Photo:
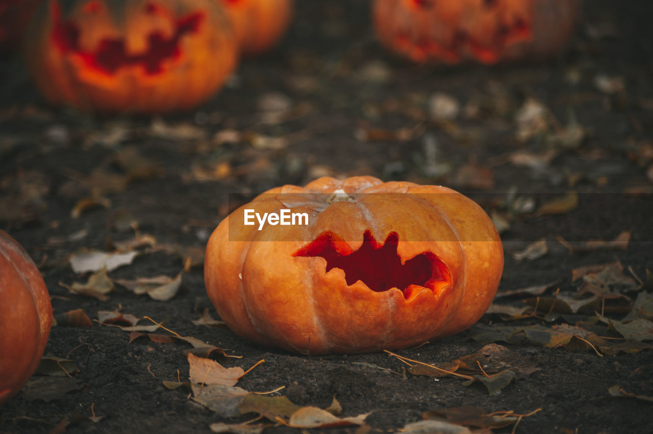
[[[52,326],[52,306],[39,269],[0,231],[0,405],[39,366]]]

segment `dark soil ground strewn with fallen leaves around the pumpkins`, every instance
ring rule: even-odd
[[[653,291],[650,280],[636,283],[646,281],[647,268],[653,270],[650,2],[587,1],[568,50],[546,63],[452,68],[409,65],[385,53],[374,40],[366,1],[297,3],[281,46],[246,59],[229,85],[197,111],[163,119],[94,119],[52,108],[18,56],[3,59],[0,227],[39,264],[55,315],[81,308],[97,319],[97,311],[121,309],[165,321],[182,336],[242,356],[218,357],[225,366],[248,368],[264,359],[238,382],[245,390],[283,386],[270,396],[323,409],[335,397],[343,416],[370,413],[362,431],[394,431],[421,420],[426,411],[475,406],[487,413],[541,409],[520,420],[518,433],[653,432],[650,401],[608,392],[618,384],[631,394],[653,396],[653,353],[620,339],[600,321],[594,330],[613,338],[609,343],[624,343],[628,353],[602,347],[599,355],[582,343],[558,346],[548,338],[498,341],[537,362],[539,370],[488,394],[479,382],[465,386],[457,377],[407,373],[405,364],[385,353],[297,356],[258,347],[226,328],[194,325],[191,320],[207,308],[217,319],[201,265],[183,274],[179,293],[168,301],[135,295],[122,285],[101,301],[73,295],[59,284],[88,278],[72,271],[72,253],[112,251],[112,243],[133,239],[132,229],[120,230],[125,216],[138,223],[140,233],[155,237],[155,247],[202,248],[228,210],[249,194],[322,175],[374,175],[452,186],[503,216],[509,227],[502,232],[506,260],[500,291],[557,282],[541,297],[554,297],[558,288],[559,297],[577,297],[583,280],[572,281],[571,270],[615,261],[623,266],[627,279],[603,287],[611,295],[601,293],[599,308],[560,316],[556,310],[564,308],[556,304],[547,321],[541,318],[548,307],[538,311],[539,318],[518,321],[486,314],[483,326],[553,330],[585,321],[591,328],[586,323],[596,321],[594,311],[603,308],[621,321],[639,294]],[[429,107],[438,93],[460,104],[453,121],[433,119]],[[540,114],[524,115],[528,101],[537,101]],[[271,106],[280,111],[271,113]],[[526,123],[517,122],[520,113]],[[225,130],[231,139],[220,139],[229,135]],[[106,199],[104,206],[82,207],[73,218],[78,201],[93,195]],[[543,211],[561,197],[562,203]],[[623,231],[631,237],[625,250],[570,252],[556,239],[579,246],[584,240],[613,240]],[[515,259],[541,239],[545,254]],[[139,250],[144,253],[131,265],[109,272],[112,280],[174,277],[183,268],[180,255]],[[525,298],[534,300],[522,294],[496,303],[522,308]],[[645,315],[646,308],[640,312]],[[445,364],[485,345],[470,339],[478,330],[400,353]],[[0,408],[0,432],[209,432],[214,422],[256,417],[222,417],[193,401],[187,388],[164,386],[163,381],[187,381],[187,343],[146,337],[130,343],[129,336],[96,322],[53,326],[46,354],[72,361],[76,387],[58,390],[50,401],[39,398],[38,388],[35,395],[25,389]],[[642,347],[651,343],[650,330],[648,338]],[[93,412],[103,418],[91,419]],[[299,431],[266,419],[256,423],[268,424],[266,433]]]

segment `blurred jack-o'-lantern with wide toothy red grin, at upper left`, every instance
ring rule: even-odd
[[[214,0],[49,0],[25,38],[46,98],[88,111],[188,109],[236,66],[231,23]]]

